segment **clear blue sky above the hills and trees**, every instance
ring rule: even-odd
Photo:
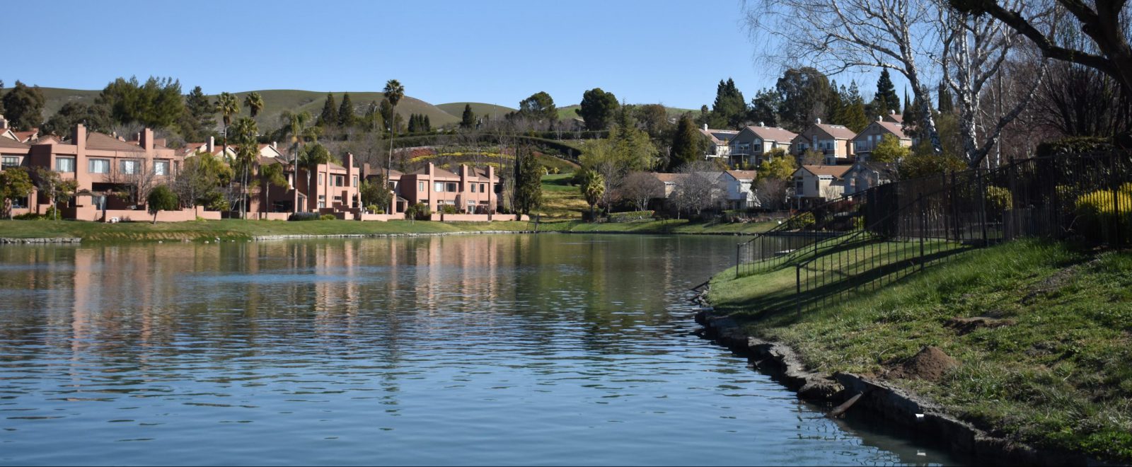
[[[396,78],[431,103],[516,107],[546,91],[567,105],[601,87],[632,103],[698,109],[720,79],[734,78],[749,100],[777,75],[754,60],[737,0],[115,0],[36,9],[51,16],[0,18],[9,41],[34,39],[0,69],[9,87],[20,79],[97,90],[154,75],[209,94],[341,92],[380,91]],[[872,92],[875,78],[866,80]]]

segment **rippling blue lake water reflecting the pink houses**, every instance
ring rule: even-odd
[[[695,337],[735,244],[0,247],[0,464],[954,464]]]

